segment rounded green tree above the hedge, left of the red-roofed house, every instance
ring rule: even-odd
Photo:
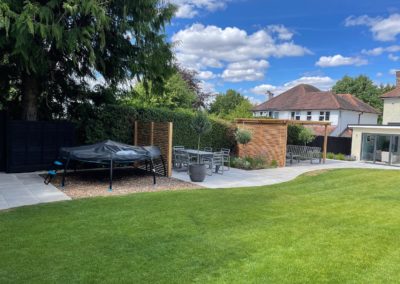
[[[210,112],[223,118],[250,117],[252,105],[235,90],[219,94],[210,106]],[[237,116],[236,116],[237,115]]]

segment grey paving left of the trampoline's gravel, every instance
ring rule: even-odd
[[[0,210],[70,199],[53,185],[45,185],[38,173],[0,173]]]

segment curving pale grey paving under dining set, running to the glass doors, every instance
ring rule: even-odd
[[[301,174],[310,171],[342,168],[400,170],[399,167],[390,167],[386,165],[327,160],[325,164],[301,163],[284,168],[253,171],[245,171],[231,168],[230,171],[225,171],[223,175],[213,174],[212,176],[207,176],[204,182],[192,183],[198,184],[206,188],[261,186],[287,182],[298,177]],[[191,182],[186,172],[174,171],[172,177],[186,182]]]

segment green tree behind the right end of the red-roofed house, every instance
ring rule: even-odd
[[[337,94],[352,94],[377,110],[382,111],[383,101],[380,96],[393,88],[391,85],[378,87],[367,76],[360,75],[355,78],[344,76],[336,82],[332,87],[332,91]]]

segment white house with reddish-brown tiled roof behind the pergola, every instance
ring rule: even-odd
[[[329,121],[329,136],[349,133],[349,124],[376,124],[378,111],[351,94],[323,92],[318,88],[300,84],[268,100],[253,109],[254,117],[276,119]],[[313,127],[314,134],[321,135],[320,127]]]

